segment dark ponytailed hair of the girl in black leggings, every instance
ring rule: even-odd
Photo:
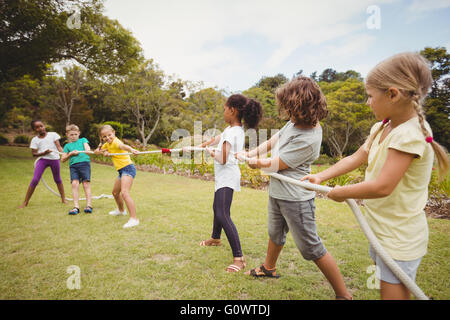
[[[228,97],[225,105],[238,111],[239,120],[244,119],[247,128],[256,128],[261,121],[263,109],[261,104],[242,94],[233,94]]]

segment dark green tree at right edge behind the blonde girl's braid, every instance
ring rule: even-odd
[[[450,148],[450,54],[444,47],[426,47],[420,54],[431,63],[433,84],[424,103],[427,121],[443,146]]]

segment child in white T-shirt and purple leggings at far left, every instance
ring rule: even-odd
[[[59,163],[59,152],[63,149],[59,143],[61,137],[56,132],[47,132],[45,130],[45,125],[41,120],[31,121],[31,129],[36,131],[37,136],[31,140],[30,148],[33,157],[39,157],[36,162],[33,179],[28,186],[27,193],[25,195],[25,200],[19,206],[19,208],[24,208],[28,205],[28,202],[33,195],[36,186],[41,180],[42,174],[47,167],[50,167],[53,174],[53,180],[55,181],[59,194],[61,195],[61,201],[67,204],[66,196],[64,194],[64,186],[61,180],[60,174],[60,163]]]

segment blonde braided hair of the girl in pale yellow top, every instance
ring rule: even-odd
[[[373,68],[366,78],[366,87],[387,91],[390,87],[397,88],[401,94],[411,100],[419,118],[424,139],[431,143],[438,161],[439,177],[442,179],[448,170],[449,161],[444,147],[431,138],[431,133],[425,127],[425,112],[422,103],[433,82],[429,62],[418,53],[405,52],[383,60]],[[366,142],[369,151],[375,137],[387,125],[385,120]]]

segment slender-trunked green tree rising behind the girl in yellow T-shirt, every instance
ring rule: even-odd
[[[113,95],[107,97],[115,109],[129,113],[130,121],[136,125],[144,147],[152,137],[161,119],[168,96],[162,89],[164,73],[153,61],[146,61],[136,72],[125,77],[113,89]]]

